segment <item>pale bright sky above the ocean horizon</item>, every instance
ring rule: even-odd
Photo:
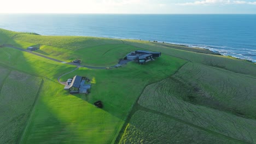
[[[7,0],[0,13],[256,14],[256,0]]]

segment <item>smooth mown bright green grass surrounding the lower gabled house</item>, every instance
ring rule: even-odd
[[[173,74],[185,63],[182,59],[163,56],[158,61],[149,63],[152,67],[156,67],[155,70],[149,67],[148,64],[138,65],[136,63],[113,70],[80,68],[74,73],[66,75],[62,80],[64,81],[77,74],[89,76],[95,82],[92,86],[92,93],[88,96],[69,95],[66,91],[63,91],[63,86],[54,82],[57,76],[64,73],[62,68],[69,69],[65,64],[49,62],[48,59],[10,48],[0,50],[10,53],[10,56],[16,55],[15,58],[18,57],[16,60],[13,59],[13,61],[16,61],[15,63],[10,63],[11,67],[46,78],[40,92],[39,102],[22,140],[24,143],[35,143],[45,141],[45,139],[48,142],[55,141],[56,143],[70,141],[77,141],[77,143],[110,143],[117,136],[127,113],[131,110],[131,106],[139,97],[144,86]],[[2,53],[1,58],[1,62],[8,63],[7,55]],[[10,59],[12,58],[10,57]],[[174,61],[175,63],[173,63]],[[157,67],[157,65],[162,65],[162,67]],[[144,67],[144,70],[141,67]],[[55,71],[55,73],[50,73],[50,71]],[[158,71],[161,71],[161,73]],[[134,83],[132,87],[130,86],[131,83]],[[106,89],[108,90],[106,91]],[[117,89],[123,90],[117,91]],[[131,89],[134,94],[130,94]],[[99,99],[104,103],[103,110],[99,110],[92,105]],[[49,119],[51,120],[49,121]],[[84,129],[88,129],[88,131],[84,131]],[[92,129],[95,129],[95,132],[92,132]],[[59,131],[62,130],[66,132],[59,134]],[[56,133],[58,134],[57,137]],[[66,138],[63,139],[63,137]]]

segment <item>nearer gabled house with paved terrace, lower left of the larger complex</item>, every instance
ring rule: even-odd
[[[77,93],[88,94],[91,89],[91,84],[85,84],[85,81],[86,80],[83,79],[82,76],[78,76],[78,75],[74,76],[74,78],[72,79],[72,81],[69,85],[69,88],[68,88],[69,93],[71,93],[71,94],[77,94]],[[67,89],[67,86],[65,86],[64,89]]]

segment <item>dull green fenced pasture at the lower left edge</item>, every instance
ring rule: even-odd
[[[0,93],[0,143],[19,143],[41,82],[15,70],[5,79]]]

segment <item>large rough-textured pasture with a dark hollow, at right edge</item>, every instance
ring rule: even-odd
[[[170,78],[147,86],[138,104],[177,121],[254,143],[254,83],[251,77],[187,63]]]

